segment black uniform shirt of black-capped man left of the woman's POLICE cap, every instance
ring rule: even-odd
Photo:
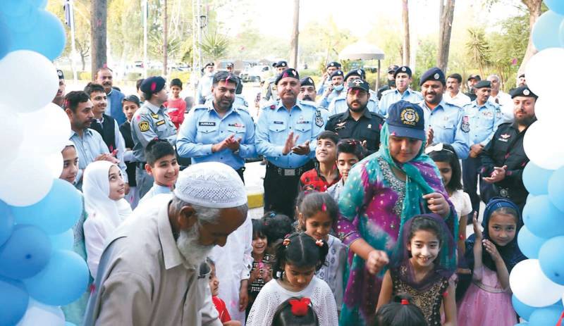
[[[325,125],[325,130],[331,130],[339,135],[339,138],[356,139],[359,142],[366,140],[369,154],[378,151],[380,147],[380,130],[384,124],[384,118],[378,113],[372,113],[364,108],[360,119],[355,120],[347,110],[343,113],[331,115]]]

